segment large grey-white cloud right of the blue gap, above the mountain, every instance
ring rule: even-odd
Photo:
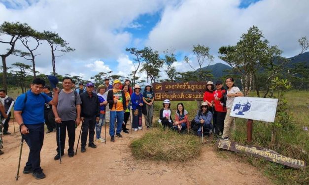
[[[309,36],[307,0],[261,0],[247,8],[239,4],[240,0],[185,0],[168,5],[146,45],[161,52],[171,46],[188,52],[192,45],[203,44],[217,55],[219,47],[235,45],[255,25],[271,45],[293,56],[300,49],[297,40]]]

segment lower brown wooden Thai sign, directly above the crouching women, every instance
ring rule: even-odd
[[[171,101],[203,100],[203,92],[154,92],[155,100],[170,99]]]

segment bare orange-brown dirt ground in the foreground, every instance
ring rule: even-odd
[[[127,127],[130,127],[128,125]],[[15,122],[15,129],[18,130]],[[14,135],[13,123],[10,123],[11,135],[4,135],[4,154],[0,155],[0,185],[268,185],[271,182],[256,168],[239,162],[234,158],[218,157],[207,143],[198,160],[178,162],[154,162],[136,160],[129,148],[130,143],[141,137],[146,129],[123,133],[111,143],[106,127],[105,143],[96,143],[97,148],[86,147],[85,153],[69,158],[68,138],[65,155],[60,161],[54,160],[56,154],[56,132],[45,134],[41,151],[41,167],[45,179],[35,180],[32,174],[23,174],[29,148],[24,142],[19,180],[16,181],[18,157],[20,151],[20,133]],[[80,126],[76,129],[75,149]],[[102,131],[104,137],[104,127]]]

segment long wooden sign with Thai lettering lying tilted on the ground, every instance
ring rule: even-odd
[[[258,147],[254,145],[242,145],[234,141],[225,141],[223,139],[218,139],[216,146],[221,149],[234,151],[234,152],[244,152],[246,154],[264,158],[268,161],[282,164],[284,166],[301,169],[306,167],[306,162],[303,160],[294,159],[291,157],[286,157],[276,153],[273,150]]]

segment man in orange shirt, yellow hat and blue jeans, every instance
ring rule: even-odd
[[[114,80],[113,89],[108,91],[107,93],[107,102],[110,109],[109,112],[109,135],[110,141],[115,141],[115,122],[117,119],[117,130],[116,136],[122,138],[120,134],[122,129],[122,123],[125,111],[127,109],[126,106],[126,96],[125,93],[120,89],[121,83],[119,80]]]

